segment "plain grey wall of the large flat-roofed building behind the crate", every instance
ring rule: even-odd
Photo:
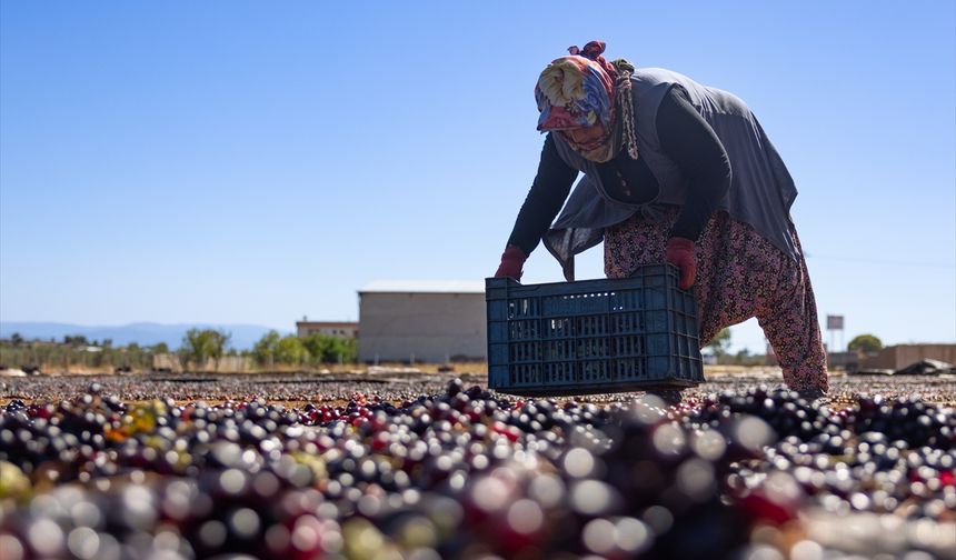
[[[359,361],[444,363],[488,353],[484,293],[366,292],[359,300]]]

